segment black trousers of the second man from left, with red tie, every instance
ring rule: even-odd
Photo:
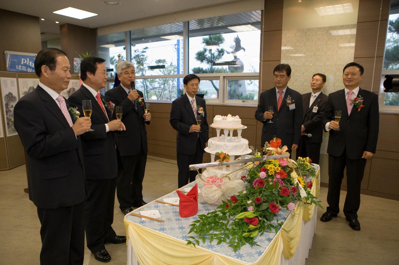
[[[105,249],[105,241],[115,238],[114,203],[116,178],[86,179],[86,242],[92,253]]]

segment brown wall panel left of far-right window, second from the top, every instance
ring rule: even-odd
[[[387,20],[381,20],[381,23],[379,25],[378,43],[376,43],[378,33],[378,21],[358,23],[356,29],[356,45],[354,58],[374,57],[376,44],[376,56],[384,56],[385,36],[387,35],[387,23]]]

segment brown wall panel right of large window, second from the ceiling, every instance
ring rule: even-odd
[[[263,32],[263,61],[275,61],[281,58],[282,30]]]

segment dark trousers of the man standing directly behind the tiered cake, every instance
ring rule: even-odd
[[[203,149],[201,148],[201,142],[198,138],[196,152],[192,155],[177,153],[177,167],[178,173],[178,188],[183,187],[188,182],[196,180],[197,171],[189,170],[188,166],[192,164],[202,163]],[[201,170],[199,170],[201,173]]]

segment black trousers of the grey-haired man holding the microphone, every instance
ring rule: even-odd
[[[117,175],[117,197],[121,210],[143,201],[143,179],[146,171],[147,154],[142,149],[135,156],[122,156],[123,169]]]

